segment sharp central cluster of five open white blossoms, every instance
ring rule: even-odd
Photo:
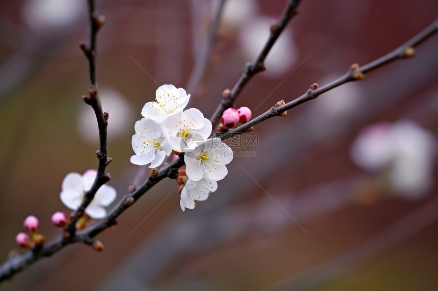
[[[143,118],[135,122],[131,163],[160,166],[166,156],[185,153],[185,179],[180,185],[180,206],[194,209],[208,198],[218,180],[228,174],[226,165],[233,159],[231,148],[219,138],[210,138],[211,122],[196,108],[185,109],[190,99],[183,88],[162,85],[155,101],[145,104]]]

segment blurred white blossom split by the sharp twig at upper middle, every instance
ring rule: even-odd
[[[243,51],[251,60],[255,59],[269,37],[269,27],[273,22],[259,17],[248,22],[240,31],[240,43]],[[262,76],[276,78],[292,71],[296,63],[297,48],[292,40],[292,34],[286,29],[272,46],[266,57],[266,71]]]

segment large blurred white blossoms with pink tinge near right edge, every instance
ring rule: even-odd
[[[358,166],[387,170],[393,190],[410,198],[421,197],[431,188],[435,153],[435,137],[408,120],[367,127],[351,147]]]

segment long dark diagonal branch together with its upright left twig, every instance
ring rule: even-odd
[[[299,2],[299,1],[298,1]],[[293,1],[291,3],[294,3]],[[97,21],[96,24],[98,24],[98,18],[94,14],[94,6],[93,6],[93,0],[89,0],[89,7],[90,7],[90,18],[92,22]],[[96,25],[94,24],[94,25]],[[100,24],[101,25],[101,24]],[[99,26],[100,26],[99,25]],[[90,62],[90,99],[93,99],[93,96],[95,96],[96,101],[91,101],[90,105],[95,109],[95,112],[99,113],[101,111],[100,101],[97,98],[97,83],[95,78],[95,34],[97,33],[97,29],[99,26],[93,26],[92,25],[92,36],[91,36],[91,42],[90,47],[86,48],[84,51],[86,52],[87,57],[89,58]],[[319,89],[309,89],[305,94],[300,96],[299,98],[286,103],[284,105],[280,106],[273,106],[271,109],[269,109],[264,114],[254,118],[253,120],[249,121],[248,123],[245,123],[241,126],[232,128],[226,133],[216,133],[213,135],[213,137],[220,137],[222,140],[225,140],[227,138],[230,138],[234,135],[242,134],[248,129],[266,119],[269,119],[273,116],[279,116],[286,110],[293,108],[295,106],[298,106],[299,104],[302,104],[304,102],[307,102],[309,100],[315,99],[320,94],[329,91],[339,85],[342,85],[344,83],[360,80],[364,76],[365,73],[371,72],[372,70],[375,70],[384,64],[387,64],[391,61],[394,61],[396,59],[404,58],[413,56],[413,47],[420,44],[422,41],[426,40],[430,36],[432,36],[436,31],[438,30],[438,19],[435,20],[431,25],[429,25],[426,29],[424,29],[420,34],[415,36],[412,40],[408,41],[404,45],[400,46],[396,50],[392,51],[391,53],[385,55],[384,57],[381,57],[373,62],[370,62],[369,64],[366,64],[363,67],[356,67],[352,66],[350,70],[341,78],[338,80],[327,84]],[[94,32],[93,32],[94,31]],[[93,44],[94,43],[94,44]],[[93,50],[94,49],[94,50]],[[352,70],[351,70],[352,69]],[[93,74],[92,74],[93,73]],[[95,89],[93,91],[92,89]],[[96,92],[96,94],[92,94],[92,92]],[[85,99],[85,98],[84,98]],[[85,99],[88,101],[87,99]],[[109,176],[105,176],[104,169],[106,164],[108,163],[108,160],[106,159],[106,119],[103,115],[101,116],[96,113],[98,123],[99,123],[99,136],[101,137],[101,144],[100,144],[100,151],[103,154],[105,159],[101,158],[99,156],[99,173],[101,176],[96,178],[96,181],[93,184],[93,187],[90,191],[87,192],[88,196],[94,196],[94,193],[96,190],[106,182],[106,180],[109,178]],[[101,117],[101,118],[100,118]],[[100,131],[102,129],[102,131]],[[102,138],[102,134],[103,138]],[[103,146],[103,148],[102,148]],[[103,151],[102,151],[103,150]],[[99,151],[98,151],[99,152]],[[103,155],[102,155],[103,156]],[[0,266],[0,281],[3,281],[7,278],[12,277],[17,272],[23,270],[24,268],[30,266],[32,263],[39,260],[41,257],[50,256],[53,253],[56,253],[57,251],[61,250],[63,247],[65,247],[68,244],[75,243],[75,242],[83,242],[86,244],[92,244],[93,238],[102,232],[104,229],[110,227],[116,222],[116,218],[119,217],[127,208],[132,206],[140,197],[144,195],[150,188],[152,188],[155,184],[157,184],[162,179],[169,177],[169,178],[175,178],[176,170],[179,169],[181,166],[184,165],[183,160],[184,154],[181,154],[179,158],[175,159],[169,166],[161,169],[158,174],[155,177],[149,176],[149,178],[140,186],[138,189],[132,188],[128,191],[127,195],[119,202],[119,204],[102,220],[100,220],[97,224],[93,225],[92,227],[78,232],[75,232],[75,229],[73,227],[73,232],[71,232],[71,236],[68,238],[59,238],[57,240],[54,240],[51,243],[44,244],[40,249],[34,250],[34,251],[28,251],[22,255],[15,256],[13,258],[10,258],[8,261],[6,261],[2,266]],[[87,198],[85,198],[87,199]],[[90,200],[91,201],[91,200]],[[85,205],[85,206],[84,206]],[[84,206],[84,210],[88,204],[85,202],[81,207]],[[79,209],[76,211],[77,217],[79,217]],[[82,213],[83,214],[83,213]],[[67,231],[70,230],[70,227],[67,229]]]

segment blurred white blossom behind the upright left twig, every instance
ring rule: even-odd
[[[99,98],[102,103],[103,112],[110,114],[108,122],[108,139],[112,141],[125,138],[127,132],[132,128],[134,121],[132,107],[120,92],[114,89],[102,88],[99,90]],[[90,106],[88,106],[90,107]],[[99,143],[99,130],[96,123],[96,115],[91,108],[80,104],[77,114],[77,131],[79,136],[91,145]]]

